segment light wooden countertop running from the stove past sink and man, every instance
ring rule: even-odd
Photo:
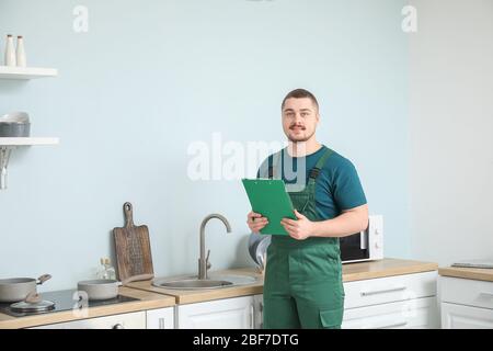
[[[375,262],[345,263],[343,264],[343,281],[353,282],[392,275],[436,271],[437,269],[438,265],[436,263],[400,259],[383,259]],[[77,319],[94,318],[146,309],[164,308],[174,306],[175,304],[192,304],[263,293],[263,275],[255,268],[232,269],[220,271],[217,273],[250,275],[257,278],[257,281],[253,284],[248,285],[202,291],[160,288],[152,286],[151,281],[133,282],[125,287],[121,287],[119,294],[139,298],[139,301],[90,307],[88,316],[84,317],[77,317],[72,314],[71,310],[33,315],[27,317],[12,317],[5,314],[0,314],[0,329],[28,328]],[[490,280],[492,280],[492,278],[490,278]]]

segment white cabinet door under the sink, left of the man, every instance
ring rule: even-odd
[[[254,298],[243,296],[177,306],[179,329],[253,329]]]

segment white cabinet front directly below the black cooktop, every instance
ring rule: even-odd
[[[45,325],[32,329],[146,329],[146,313],[112,315]]]

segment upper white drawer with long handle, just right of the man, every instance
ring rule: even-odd
[[[344,283],[344,308],[436,296],[437,272],[423,272]]]

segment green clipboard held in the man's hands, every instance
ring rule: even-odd
[[[288,235],[280,219],[295,216],[295,207],[280,179],[242,179],[252,211],[267,217],[268,224],[261,234]]]

